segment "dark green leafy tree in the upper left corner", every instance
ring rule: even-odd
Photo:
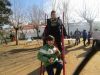
[[[0,25],[8,24],[9,16],[12,14],[9,0],[0,0]]]

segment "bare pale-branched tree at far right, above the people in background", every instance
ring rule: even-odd
[[[98,8],[95,8],[95,9],[89,8],[89,7],[86,5],[85,1],[84,1],[84,2],[83,2],[83,8],[82,8],[82,9],[79,11],[79,13],[78,13],[79,16],[80,16],[81,18],[83,18],[84,20],[86,20],[87,23],[89,24],[89,26],[90,26],[89,31],[90,31],[90,32],[92,32],[93,22],[94,22],[95,18],[96,18],[97,15],[98,15],[97,9],[98,9]]]

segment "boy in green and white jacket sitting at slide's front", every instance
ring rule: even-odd
[[[58,60],[60,51],[54,46],[54,37],[49,35],[46,38],[46,44],[40,49],[38,59],[44,63],[48,75],[60,75],[62,70],[62,62]],[[54,74],[53,68],[56,68]]]

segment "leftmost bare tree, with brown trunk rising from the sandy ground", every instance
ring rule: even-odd
[[[19,6],[19,7],[18,7]],[[16,38],[16,45],[18,45],[18,30],[21,28],[23,23],[23,11],[20,8],[20,5],[14,2],[13,5],[13,14],[10,16],[11,25],[15,30],[15,38]]]

